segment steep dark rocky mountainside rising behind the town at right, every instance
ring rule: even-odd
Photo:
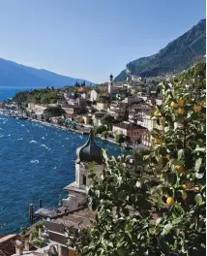
[[[194,62],[205,61],[205,54],[206,19],[204,18],[157,54],[135,59],[128,63],[126,68],[131,71],[132,75],[141,77],[181,72],[189,69]],[[115,81],[126,80],[126,78],[126,70],[123,70]]]

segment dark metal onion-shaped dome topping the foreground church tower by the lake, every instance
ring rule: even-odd
[[[86,144],[77,147],[76,156],[76,162],[96,162],[98,164],[103,163],[102,147],[94,142],[92,132],[90,133]]]

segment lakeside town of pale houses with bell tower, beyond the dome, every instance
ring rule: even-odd
[[[152,130],[164,129],[164,119],[158,118],[156,107],[163,103],[158,84],[170,78],[175,76],[146,80],[128,73],[127,80],[122,82],[114,83],[111,75],[108,82],[94,86],[76,83],[74,87],[40,89],[44,97],[54,95],[47,104],[36,99],[30,102],[28,96],[22,102],[19,92],[14,100],[1,105],[1,112],[81,134],[89,134],[93,128],[100,138],[129,149],[138,145],[149,147]]]

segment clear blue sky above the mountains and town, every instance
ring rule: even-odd
[[[101,82],[205,17],[205,0],[0,0],[0,57]]]

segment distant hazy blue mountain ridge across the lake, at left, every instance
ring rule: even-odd
[[[58,75],[44,69],[23,66],[0,58],[0,86],[28,88],[61,87],[74,85],[75,81],[82,82],[83,80]],[[85,83],[86,85],[94,84],[88,80],[85,80]]]

